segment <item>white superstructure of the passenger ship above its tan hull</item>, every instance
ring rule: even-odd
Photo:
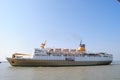
[[[64,49],[56,52],[56,50],[57,49],[35,49],[33,59],[73,61],[111,61],[113,59],[112,54],[106,53],[64,52]]]

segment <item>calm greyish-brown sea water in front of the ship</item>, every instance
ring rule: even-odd
[[[0,80],[120,80],[120,62],[79,67],[12,67],[1,63]]]

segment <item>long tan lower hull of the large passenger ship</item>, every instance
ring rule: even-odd
[[[112,61],[72,61],[72,60],[37,60],[37,59],[16,59],[7,58],[12,66],[93,66],[108,65]]]

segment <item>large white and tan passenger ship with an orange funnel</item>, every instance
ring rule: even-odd
[[[45,45],[46,41],[41,44],[41,48],[35,48],[33,55],[14,53],[12,57],[7,57],[6,59],[12,66],[22,67],[109,65],[113,60],[112,54],[87,52],[82,41],[78,49],[45,48]]]

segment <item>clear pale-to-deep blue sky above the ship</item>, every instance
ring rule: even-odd
[[[120,60],[117,0],[0,0],[0,61],[46,47],[113,54]]]

